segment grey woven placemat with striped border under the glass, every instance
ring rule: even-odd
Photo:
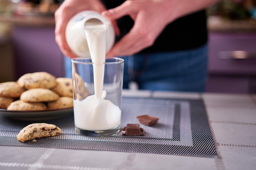
[[[208,124],[204,102],[201,99],[128,98],[122,100],[121,127],[139,123],[138,115],[159,117],[155,126],[145,126],[144,136],[123,136],[121,132],[108,137],[85,137],[76,134],[72,114],[45,121],[17,121],[0,117],[0,145],[46,148],[74,148],[113,150],[168,155],[215,156],[216,150]],[[37,139],[25,143],[16,135],[31,123],[56,124],[62,135]]]

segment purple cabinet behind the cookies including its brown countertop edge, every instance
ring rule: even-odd
[[[38,71],[64,76],[63,54],[55,42],[53,15],[0,15],[0,22],[11,25],[14,80]]]

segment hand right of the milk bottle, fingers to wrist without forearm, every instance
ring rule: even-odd
[[[125,35],[106,56],[135,54],[155,42],[165,26],[173,20],[170,16],[170,0],[126,0],[119,7],[103,11],[102,15],[116,20],[125,15],[135,21],[130,32]]]

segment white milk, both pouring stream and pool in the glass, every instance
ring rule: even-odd
[[[82,101],[74,100],[74,121],[77,128],[84,130],[108,130],[120,125],[121,110],[111,101],[102,98],[106,56],[107,26],[98,20],[85,22],[87,38],[94,73],[94,95]]]

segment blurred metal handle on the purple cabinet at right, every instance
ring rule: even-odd
[[[219,51],[217,55],[223,60],[256,60],[256,53],[251,53],[248,51]]]

